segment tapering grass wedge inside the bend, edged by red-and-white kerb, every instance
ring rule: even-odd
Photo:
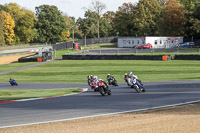
[[[41,98],[72,94],[82,91],[81,88],[41,89],[41,90],[0,90],[0,101]]]

